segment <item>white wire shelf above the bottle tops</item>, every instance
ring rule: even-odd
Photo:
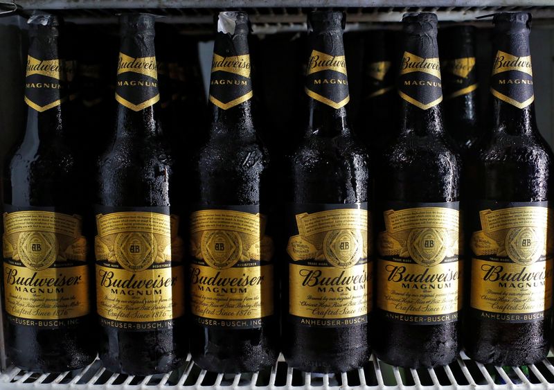
[[[12,0],[3,0],[4,3]],[[0,1],[1,3],[2,1]],[[529,11],[535,21],[554,19],[554,0],[15,0],[22,12],[56,12],[80,24],[116,22],[121,12],[152,12],[174,24],[211,26],[215,12],[226,8],[247,10],[254,28],[305,30],[310,8],[335,8],[347,13],[350,30],[364,24],[397,22],[405,12],[435,12],[440,21],[475,21],[499,11]]]

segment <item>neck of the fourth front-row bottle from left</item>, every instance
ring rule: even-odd
[[[340,26],[308,35],[305,93],[308,98],[307,136],[349,134],[346,105],[350,101]]]

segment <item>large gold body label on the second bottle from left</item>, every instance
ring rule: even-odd
[[[96,299],[102,326],[151,331],[184,316],[184,242],[168,207],[98,206]]]

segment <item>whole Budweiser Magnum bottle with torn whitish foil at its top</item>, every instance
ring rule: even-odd
[[[211,125],[190,187],[190,351],[202,369],[242,373],[278,357],[269,161],[252,115],[248,16],[216,19]]]

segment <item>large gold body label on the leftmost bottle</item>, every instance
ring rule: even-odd
[[[87,240],[78,215],[4,213],[4,303],[27,326],[70,325],[90,312]]]

